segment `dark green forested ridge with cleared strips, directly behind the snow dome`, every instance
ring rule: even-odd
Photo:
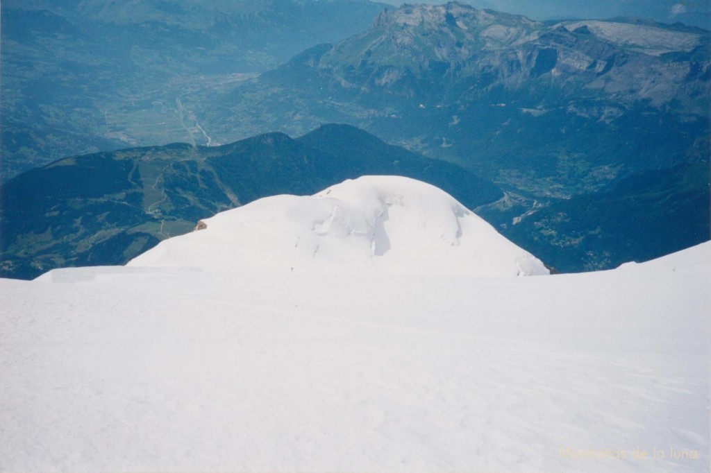
[[[277,194],[310,195],[360,175],[424,180],[476,207],[502,197],[488,181],[390,146],[350,126],[225,146],[132,148],[56,161],[0,186],[0,277],[122,264],[199,219]]]

